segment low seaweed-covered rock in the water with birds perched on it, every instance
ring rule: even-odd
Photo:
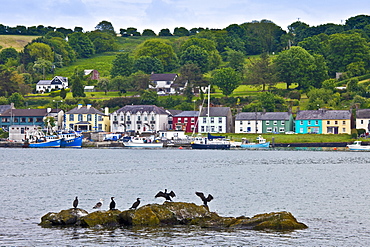
[[[307,226],[297,222],[289,212],[259,214],[249,217],[221,217],[205,206],[194,203],[165,202],[162,205],[148,204],[136,210],[95,211],[88,214],[83,209],[62,210],[47,213],[41,218],[41,226],[173,226],[196,225],[205,228],[234,228],[251,230],[295,230]]]

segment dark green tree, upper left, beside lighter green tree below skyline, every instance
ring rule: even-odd
[[[94,44],[85,33],[72,33],[69,35],[68,43],[78,58],[88,58],[95,54]]]

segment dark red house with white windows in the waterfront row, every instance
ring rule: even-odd
[[[198,111],[183,111],[173,116],[172,127],[174,130],[183,130],[185,132],[198,132]]]

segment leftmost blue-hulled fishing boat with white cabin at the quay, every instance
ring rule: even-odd
[[[26,134],[24,147],[29,148],[59,148],[61,139],[58,135],[45,135],[41,130]]]

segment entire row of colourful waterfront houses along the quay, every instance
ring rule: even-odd
[[[45,128],[54,118],[59,129],[84,132],[159,132],[181,130],[194,133],[297,133],[351,134],[351,129],[370,132],[370,109],[305,110],[294,119],[291,112],[240,112],[233,116],[229,107],[210,107],[200,111],[166,110],[155,105],[127,105],[112,113],[91,105],[62,109],[15,109],[0,106],[0,127],[24,132],[32,126]]]

